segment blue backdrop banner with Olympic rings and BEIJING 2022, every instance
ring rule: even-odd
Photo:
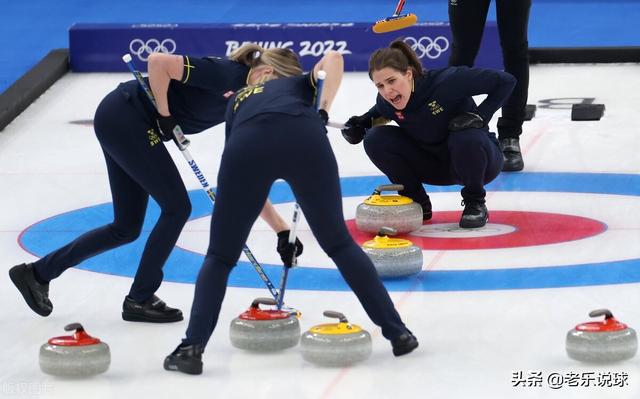
[[[71,69],[75,72],[125,72],[121,57],[130,53],[139,69],[153,52],[191,56],[228,56],[244,43],[295,51],[309,70],[329,50],[343,54],[345,70],[366,71],[369,55],[402,37],[425,68],[447,66],[451,30],[447,22],[418,23],[401,31],[376,34],[367,23],[305,24],[75,24],[69,30]],[[476,66],[502,69],[495,23],[487,22]]]

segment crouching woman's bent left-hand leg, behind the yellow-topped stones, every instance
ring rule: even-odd
[[[422,183],[453,184],[448,181],[448,170],[443,169],[447,162],[421,149],[418,142],[397,126],[370,129],[364,139],[364,149],[369,159],[392,183],[404,186],[400,195],[420,204],[424,219],[430,219],[431,201]]]

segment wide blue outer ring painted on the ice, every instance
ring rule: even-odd
[[[384,176],[341,178],[344,197],[366,196],[379,184],[389,181]],[[429,186],[429,192],[457,192],[458,186]],[[487,186],[487,191],[533,191],[585,194],[640,195],[640,175],[605,173],[509,173],[500,175]],[[211,203],[202,190],[192,190],[191,219],[211,213]],[[273,185],[269,198],[274,204],[293,202],[289,186]],[[21,234],[20,244],[36,256],[67,244],[80,234],[110,223],[112,204],[100,204],[53,216],[40,221]],[[99,273],[133,277],[149,231],[159,215],[150,201],[143,232],[135,242],[108,251],[83,262],[78,267]],[[70,229],[69,226],[72,226]],[[259,254],[256,255],[258,261]],[[164,267],[166,281],[194,283],[204,256],[176,247]],[[262,264],[277,285],[281,265]],[[421,272],[415,276],[385,280],[390,291],[473,291],[577,287],[640,282],[640,259],[613,260],[564,266],[526,267],[483,270],[446,270]],[[229,279],[229,286],[263,288],[264,283],[249,262],[240,261]],[[346,291],[349,287],[335,268],[301,267],[289,274],[287,288],[293,290]]]

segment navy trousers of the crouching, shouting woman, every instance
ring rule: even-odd
[[[367,132],[364,148],[373,163],[400,192],[419,204],[429,197],[422,183],[460,184],[465,201],[484,201],[485,184],[502,169],[502,152],[493,133],[466,129],[450,133],[440,145],[424,145],[397,126],[376,126]]]

